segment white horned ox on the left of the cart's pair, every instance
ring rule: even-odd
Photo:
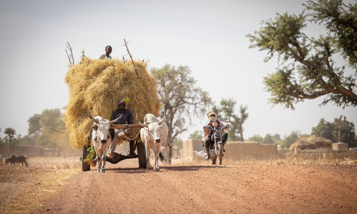
[[[108,152],[108,148],[114,140],[115,131],[109,127],[119,121],[122,116],[123,114],[121,114],[119,118],[109,121],[100,116],[93,118],[89,113],[89,117],[94,122],[92,129],[90,130],[89,138],[91,143],[94,145],[95,152],[97,153],[97,172],[105,172],[104,165],[106,154]]]

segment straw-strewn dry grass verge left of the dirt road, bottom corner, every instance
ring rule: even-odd
[[[77,172],[79,170],[0,167],[0,213],[29,213],[34,209],[46,212],[45,200]]]

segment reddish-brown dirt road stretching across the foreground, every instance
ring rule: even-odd
[[[357,165],[165,165],[80,172],[32,213],[357,213]]]

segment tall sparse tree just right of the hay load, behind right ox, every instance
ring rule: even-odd
[[[207,111],[211,99],[208,92],[196,86],[196,80],[190,76],[191,70],[187,66],[165,65],[152,68],[150,72],[158,83],[157,91],[166,111],[165,122],[169,128],[167,143],[172,143],[179,134],[189,129],[192,117]]]

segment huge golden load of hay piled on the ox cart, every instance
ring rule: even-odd
[[[69,88],[69,103],[64,121],[73,148],[81,149],[90,144],[88,136],[93,121],[88,117],[109,119],[117,102],[130,98],[127,108],[138,113],[140,121],[145,114],[159,114],[161,103],[157,97],[157,82],[147,72],[145,62],[135,61],[137,74],[131,61],[94,60],[85,57],[77,65],[70,66],[65,82]],[[134,129],[129,138],[134,138]]]

